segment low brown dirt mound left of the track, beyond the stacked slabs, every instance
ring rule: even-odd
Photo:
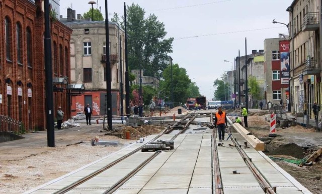
[[[122,139],[126,138],[126,132],[130,132],[130,139],[138,139],[140,137],[145,137],[151,134],[158,134],[165,130],[165,127],[154,126],[154,125],[142,125],[138,128],[133,128],[131,126],[126,126],[122,129],[118,129],[112,132],[106,133],[106,135],[115,135]]]

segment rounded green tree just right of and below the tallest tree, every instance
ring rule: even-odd
[[[186,102],[188,88],[191,80],[187,75],[187,70],[180,68],[178,64],[172,66],[173,82],[171,84],[171,66],[168,66],[164,72],[164,80],[160,80],[160,97],[171,101],[171,89],[173,87],[174,102]]]

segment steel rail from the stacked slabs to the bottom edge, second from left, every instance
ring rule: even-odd
[[[103,192],[104,194],[107,193],[113,193],[118,188],[120,188],[126,181],[128,181],[130,178],[132,178],[138,171],[140,171],[146,164],[148,164],[153,158],[155,158],[161,151],[154,152],[153,155],[151,155],[149,158],[147,158],[145,161],[141,163],[138,167],[134,168],[130,173],[128,173],[126,176],[124,176],[121,180],[116,182],[114,185],[112,185],[108,190]]]

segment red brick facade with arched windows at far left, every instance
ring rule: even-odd
[[[45,24],[40,8],[41,1],[35,2],[36,5],[28,0],[0,0],[0,115],[22,121],[27,130],[44,129],[46,124]],[[6,20],[9,21],[9,31],[6,31]],[[31,34],[31,40],[27,38],[27,31]],[[9,44],[6,41],[6,32],[9,32]],[[51,24],[53,77],[68,77],[68,81],[71,32],[71,29],[59,21]],[[7,48],[10,48],[9,59]],[[28,48],[31,51],[27,52]],[[8,91],[10,88],[12,92]],[[54,112],[61,106],[65,112],[64,120],[70,116],[68,98],[65,90],[54,92]]]

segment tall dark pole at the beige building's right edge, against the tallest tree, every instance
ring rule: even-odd
[[[126,116],[130,116],[130,81],[129,81],[129,64],[127,53],[127,29],[126,29],[126,5],[124,2],[124,31],[125,31],[125,110]]]

